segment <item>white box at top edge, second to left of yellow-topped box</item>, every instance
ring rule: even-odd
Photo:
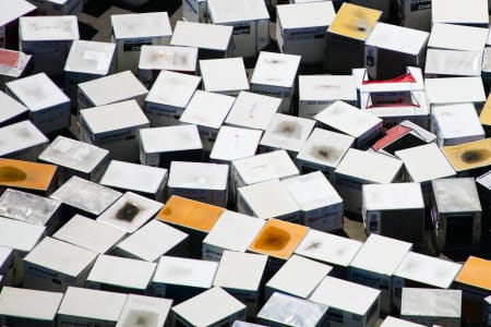
[[[230,57],[254,57],[270,45],[270,13],[264,0],[207,0],[209,22],[232,26]]]

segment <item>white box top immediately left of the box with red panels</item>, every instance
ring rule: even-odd
[[[354,75],[299,75],[300,101],[357,100]]]

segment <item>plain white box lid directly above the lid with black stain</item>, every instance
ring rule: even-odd
[[[155,194],[167,179],[167,169],[111,160],[99,184],[134,192]]]

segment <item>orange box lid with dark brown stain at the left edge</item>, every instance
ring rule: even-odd
[[[0,159],[0,185],[47,191],[57,172],[56,165]]]

